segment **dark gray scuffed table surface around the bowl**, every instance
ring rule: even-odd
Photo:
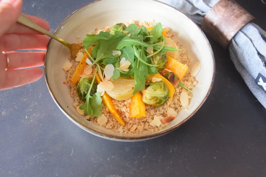
[[[25,0],[23,12],[53,32],[91,0]],[[266,5],[238,0],[266,30]],[[114,142],[73,124],[45,79],[0,92],[0,176],[266,176],[266,111],[210,39],[216,78],[202,108],[177,130],[144,142]]]

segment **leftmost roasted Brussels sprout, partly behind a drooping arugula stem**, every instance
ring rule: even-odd
[[[92,78],[80,78],[80,81],[76,83],[77,86],[76,91],[80,100],[85,101],[86,99],[85,97],[90,89],[92,80],[93,80]],[[90,91],[90,96],[93,96],[93,94],[96,93],[96,90],[97,90],[97,83],[93,82],[93,86]]]

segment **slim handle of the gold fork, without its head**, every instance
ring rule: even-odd
[[[20,16],[18,17],[17,19],[17,22],[33,29],[33,30],[36,30],[40,33],[43,33],[51,38],[53,38],[54,40],[57,40],[58,42],[60,42],[61,44],[65,45],[65,46],[68,46],[69,43],[62,40],[61,38],[57,37],[56,35],[53,35],[52,33],[50,33],[49,31],[47,31],[46,29],[40,27],[38,24],[32,22],[30,19],[28,19],[27,17],[25,17],[24,15],[20,14]]]

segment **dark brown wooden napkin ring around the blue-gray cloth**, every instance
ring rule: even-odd
[[[220,0],[205,15],[201,28],[226,48],[236,33],[255,18],[234,0]]]

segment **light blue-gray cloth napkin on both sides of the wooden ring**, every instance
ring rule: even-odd
[[[201,24],[219,0],[159,0]],[[254,23],[244,26],[229,44],[230,57],[246,85],[266,109],[266,32]]]

